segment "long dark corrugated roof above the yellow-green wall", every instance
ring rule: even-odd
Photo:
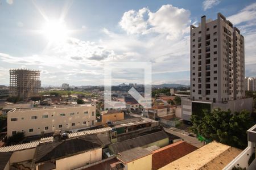
[[[162,130],[156,133],[151,133],[151,134],[143,135],[141,137],[129,139],[127,141],[113,143],[109,147],[113,148],[114,154],[117,154],[118,152],[130,150],[131,148],[134,148],[134,147],[143,147],[150,143],[160,141],[164,138],[168,138],[168,135]]]

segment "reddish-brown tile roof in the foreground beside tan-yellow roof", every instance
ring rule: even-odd
[[[197,147],[187,142],[179,141],[152,151],[152,169],[164,167],[195,150],[197,150]]]

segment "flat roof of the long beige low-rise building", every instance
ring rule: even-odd
[[[70,105],[54,105],[47,107],[34,107],[34,108],[15,108],[10,112],[24,112],[24,111],[44,111],[49,109],[62,109],[62,108],[78,108],[78,107],[92,107],[92,104],[70,104]]]

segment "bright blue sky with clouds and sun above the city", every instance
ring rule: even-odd
[[[245,37],[256,76],[256,1],[0,0],[0,84],[38,69],[43,86],[103,85],[108,62],[152,63],[152,84],[189,85],[189,27],[221,12]],[[114,69],[113,84],[143,83],[143,68]]]

